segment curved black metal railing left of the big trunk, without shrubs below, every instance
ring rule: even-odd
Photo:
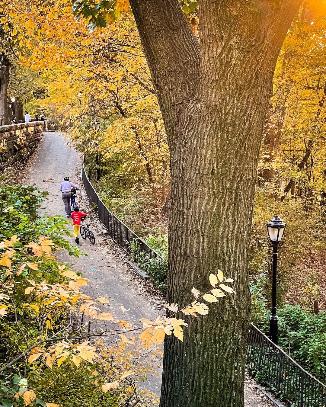
[[[155,250],[149,247],[136,233],[107,209],[86,175],[84,160],[81,169],[81,178],[90,204],[99,221],[107,230],[108,235],[118,243],[125,252],[133,256],[134,259],[136,258],[136,260],[138,256],[142,256],[143,259],[150,260],[151,258],[158,258],[165,262]]]

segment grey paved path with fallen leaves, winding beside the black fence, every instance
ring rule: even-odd
[[[69,140],[65,140],[59,132],[44,133],[44,139],[39,145],[33,157],[28,161],[22,171],[22,182],[24,184],[35,184],[39,188],[47,190],[50,195],[41,209],[42,213],[49,215],[65,214],[60,183],[65,176],[69,176],[75,184],[80,185],[78,178],[81,168],[81,155],[72,147],[68,147]],[[80,198],[77,197],[80,201]],[[85,205],[85,203],[84,203]],[[83,204],[81,205],[83,209]],[[86,211],[87,212],[87,211]],[[109,309],[115,313],[119,319],[125,315],[120,309],[131,309],[126,315],[131,324],[136,325],[139,318],[146,317],[154,319],[157,315],[162,315],[164,307],[157,303],[155,298],[147,295],[141,284],[132,277],[120,254],[111,245],[103,245],[101,237],[93,228],[96,236],[95,245],[91,245],[88,240],[80,239],[81,249],[89,256],[79,258],[70,257],[66,252],[59,252],[59,261],[69,264],[76,271],[82,271],[84,276],[90,279],[88,287],[84,290],[92,298],[105,297],[110,300]],[[71,239],[73,242],[74,239]],[[94,271],[91,271],[94,270]],[[146,382],[147,388],[160,394],[161,367],[155,369],[157,373],[150,375]],[[257,392],[251,382],[246,381],[245,385],[245,407],[266,407],[269,404],[262,392]]]

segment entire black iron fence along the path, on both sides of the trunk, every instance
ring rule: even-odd
[[[162,257],[112,214],[98,197],[85,167],[82,179],[90,204],[109,236],[133,257]],[[164,261],[164,260],[163,260]],[[267,386],[291,407],[326,407],[326,386],[306,372],[288,354],[251,324],[246,368],[257,383]]]

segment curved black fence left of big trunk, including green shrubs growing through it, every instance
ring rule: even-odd
[[[99,221],[107,230],[108,235],[118,243],[140,267],[146,270],[153,281],[164,291],[166,288],[165,281],[168,266],[166,260],[108,210],[86,175],[84,160],[81,169],[81,178],[90,204]]]

